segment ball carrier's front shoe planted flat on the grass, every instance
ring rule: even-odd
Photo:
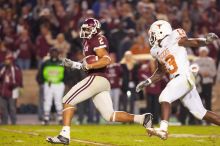
[[[48,137],[46,139],[47,142],[52,143],[52,144],[64,144],[64,145],[69,145],[69,139],[66,137],[63,137],[62,135],[58,135],[55,137]]]

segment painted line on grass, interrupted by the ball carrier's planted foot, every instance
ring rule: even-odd
[[[0,130],[7,131],[7,132],[13,132],[13,133],[19,133],[19,134],[28,134],[28,135],[33,135],[33,136],[43,136],[43,135],[40,135],[39,133],[36,133],[36,132],[11,130],[11,129],[7,129],[7,128],[0,128]],[[84,143],[84,144],[91,144],[94,146],[116,146],[116,145],[111,145],[111,144],[106,144],[106,143],[92,142],[92,141],[80,140],[80,139],[75,139],[75,138],[71,138],[71,141],[78,142],[78,143]]]

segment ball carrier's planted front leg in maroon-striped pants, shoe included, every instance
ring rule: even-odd
[[[105,79],[106,80],[106,79]],[[63,128],[56,137],[49,137],[50,143],[69,144],[70,126],[74,115],[74,106],[103,91],[103,77],[88,76],[76,84],[63,98]]]

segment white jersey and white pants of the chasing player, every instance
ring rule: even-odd
[[[184,30],[176,29],[162,40],[161,47],[151,48],[151,55],[165,66],[170,77],[173,78],[161,92],[159,102],[172,103],[180,99],[195,117],[203,119],[207,110],[196,90],[186,48],[178,44],[183,37],[186,37]]]

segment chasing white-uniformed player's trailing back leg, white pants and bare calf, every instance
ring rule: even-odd
[[[196,118],[220,126],[220,116],[212,111],[207,111],[204,108],[199,93],[195,87],[182,99],[182,102]]]

